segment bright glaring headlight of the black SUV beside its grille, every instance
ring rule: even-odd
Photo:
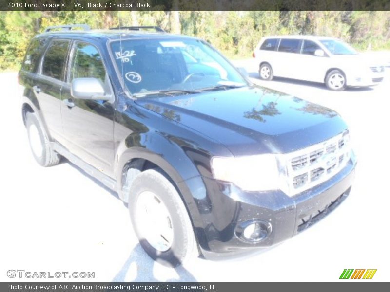
[[[245,191],[267,191],[281,188],[277,157],[273,154],[218,157],[211,160],[214,178],[231,182]]]

